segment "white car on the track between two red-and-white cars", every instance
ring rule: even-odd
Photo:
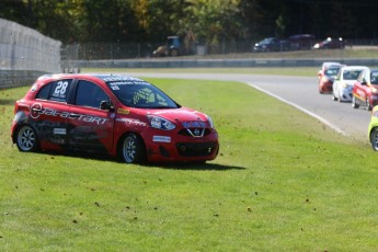
[[[359,73],[367,70],[365,66],[342,67],[334,79],[332,88],[332,99],[339,102],[352,102],[352,90]]]

